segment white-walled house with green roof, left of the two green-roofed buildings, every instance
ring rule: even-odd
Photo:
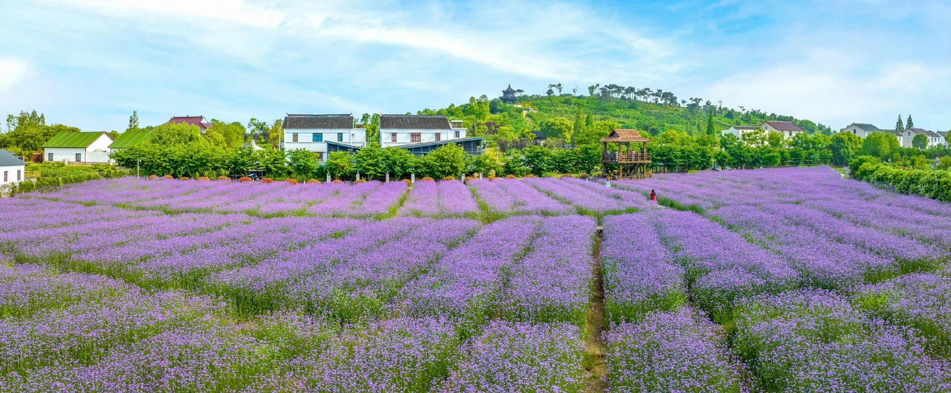
[[[102,131],[61,132],[40,147],[48,161],[108,162],[112,141]]]

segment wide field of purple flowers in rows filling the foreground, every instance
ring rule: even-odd
[[[0,212],[2,392],[951,391],[951,206],[827,168],[118,178]]]

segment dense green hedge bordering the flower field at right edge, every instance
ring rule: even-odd
[[[951,171],[899,168],[882,162],[864,162],[852,178],[889,184],[896,192],[951,202]]]

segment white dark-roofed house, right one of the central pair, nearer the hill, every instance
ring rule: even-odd
[[[379,144],[404,146],[466,138],[462,121],[449,121],[440,115],[380,115]]]

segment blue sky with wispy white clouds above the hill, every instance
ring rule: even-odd
[[[823,122],[951,129],[940,1],[0,2],[0,114],[416,112],[507,84],[623,84]]]

